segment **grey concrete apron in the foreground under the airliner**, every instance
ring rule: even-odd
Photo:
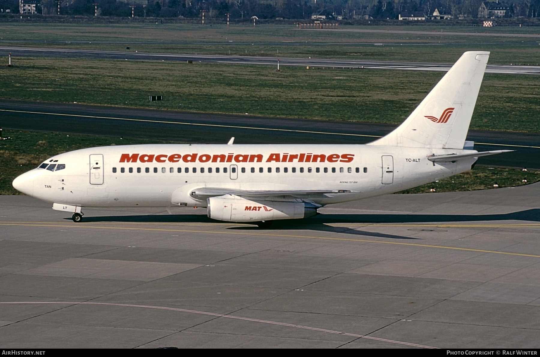
[[[0,345],[540,348],[539,194],[388,195],[268,230],[0,196]]]

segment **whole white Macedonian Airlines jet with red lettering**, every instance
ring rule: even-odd
[[[470,51],[393,132],[366,145],[126,145],[75,150],[13,186],[82,221],[83,207],[206,207],[220,221],[268,226],[471,169],[465,141],[489,52]]]

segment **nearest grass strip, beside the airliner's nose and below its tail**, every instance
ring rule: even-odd
[[[48,157],[71,150],[95,146],[132,145],[140,143],[180,143],[159,140],[136,140],[110,138],[106,136],[66,135],[60,133],[4,131],[4,137],[11,140],[0,141],[0,195],[20,195],[11,186],[18,175],[38,166]],[[400,193],[424,193],[434,188],[436,192],[471,191],[499,187],[523,186],[540,181],[540,171],[520,171],[510,169],[490,169],[476,166],[449,179],[429,183]]]

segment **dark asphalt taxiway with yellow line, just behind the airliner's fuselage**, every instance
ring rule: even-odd
[[[0,127],[189,143],[367,143],[396,126],[265,118],[82,104],[0,100]],[[475,149],[515,150],[481,157],[479,164],[540,169],[540,134],[469,131]]]

